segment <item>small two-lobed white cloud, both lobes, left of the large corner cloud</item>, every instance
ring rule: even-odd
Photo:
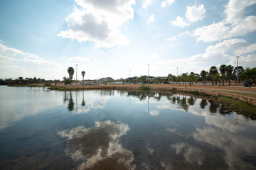
[[[186,19],[184,20],[181,16],[177,16],[176,21],[171,21],[171,24],[173,26],[178,26],[183,28],[183,27],[189,26],[191,23],[202,20],[205,13],[206,13],[206,10],[203,4],[201,4],[200,6],[199,5],[188,6],[186,11]]]

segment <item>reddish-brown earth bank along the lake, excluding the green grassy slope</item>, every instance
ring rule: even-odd
[[[18,85],[14,85],[18,86]],[[193,84],[192,86],[184,86],[183,84],[99,84],[99,85],[66,85],[58,84],[44,86],[44,84],[26,84],[23,86],[30,87],[45,87],[50,90],[58,91],[79,91],[79,90],[146,90],[147,87],[151,91],[171,91],[183,92],[188,94],[201,96],[225,96],[235,98],[246,103],[256,106],[256,88],[251,89],[243,86],[213,86],[213,85],[199,85]]]

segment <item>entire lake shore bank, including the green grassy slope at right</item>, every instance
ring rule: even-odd
[[[27,87],[43,87],[49,90],[57,91],[82,91],[82,90],[120,90],[120,91],[143,91],[143,92],[159,92],[163,94],[187,94],[193,96],[200,96],[214,103],[220,103],[225,106],[226,113],[236,112],[256,120],[256,97],[245,96],[242,94],[235,94],[232,91],[220,91],[215,89],[218,86],[176,86],[173,84],[101,84],[101,85],[81,85],[81,86],[64,86],[58,84],[57,86],[44,86],[44,84],[26,84]],[[212,89],[209,89],[212,88]],[[235,89],[242,88],[235,87]],[[235,89],[230,86],[225,86],[225,89]],[[245,88],[242,88],[245,89]],[[223,89],[222,89],[223,90]],[[246,91],[256,92],[256,88],[245,89]],[[224,112],[225,113],[225,112]]]

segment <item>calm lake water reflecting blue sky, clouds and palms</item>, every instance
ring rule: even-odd
[[[256,121],[183,94],[0,86],[0,169],[256,169]]]

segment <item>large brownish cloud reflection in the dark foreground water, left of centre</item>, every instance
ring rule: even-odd
[[[78,169],[104,169],[110,163],[113,168],[135,169],[132,152],[124,149],[119,142],[128,130],[129,126],[124,123],[107,120],[96,122],[93,128],[78,126],[57,134],[67,140],[65,153],[79,163]]]

